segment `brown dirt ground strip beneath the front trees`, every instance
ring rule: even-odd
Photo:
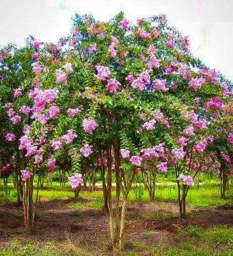
[[[81,199],[83,203],[88,199]],[[42,201],[37,206],[35,230],[27,234],[24,231],[22,208],[14,204],[0,206],[0,246],[17,238],[22,244],[39,241],[44,245],[55,241],[59,249],[70,248],[91,255],[114,255],[109,249],[107,238],[108,217],[101,209],[85,206],[75,210],[67,208],[75,203],[72,199]],[[190,211],[190,210],[189,210]],[[81,214],[79,222],[75,218]],[[211,227],[227,224],[233,227],[233,208],[219,207],[199,209],[189,212],[187,219],[178,216],[175,203],[134,203],[129,204],[126,216],[126,239],[145,244],[177,243],[174,235],[180,228]],[[142,234],[152,232],[151,237]],[[129,245],[130,247],[130,245]],[[146,255],[146,254],[144,254]]]

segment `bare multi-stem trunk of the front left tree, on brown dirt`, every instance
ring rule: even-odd
[[[24,208],[24,225],[27,231],[32,231],[34,227],[35,206],[33,202],[33,175],[23,181],[22,203]]]

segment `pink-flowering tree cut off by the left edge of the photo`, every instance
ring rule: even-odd
[[[3,169],[9,167],[7,170],[12,173],[18,204],[22,200],[20,171],[27,162],[19,150],[19,138],[23,126],[30,124],[31,101],[27,91],[34,76],[33,53],[32,47],[17,48],[15,45],[0,50],[1,163]]]

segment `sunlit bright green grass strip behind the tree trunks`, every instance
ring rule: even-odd
[[[1,187],[0,187],[1,188]],[[140,190],[140,192],[139,192]],[[0,190],[1,191],[1,190]],[[36,191],[34,191],[35,197]],[[169,202],[177,202],[177,188],[175,183],[160,181],[160,185],[156,187],[156,201],[169,201]],[[204,185],[200,188],[196,186],[191,186],[188,191],[187,203],[191,205],[191,208],[207,208],[214,206],[221,206],[224,204],[232,204],[233,198],[233,188],[229,188],[227,190],[227,199],[220,198],[220,188],[216,183],[210,183],[208,180],[205,181]],[[112,191],[112,197],[116,195],[116,192]],[[54,199],[70,199],[74,197],[73,191],[61,190],[59,183],[53,183],[53,185],[45,185],[42,190],[39,191],[39,199],[40,200],[54,200]],[[99,209],[101,208],[101,200],[103,199],[102,191],[81,191],[80,198],[89,198],[96,199],[96,203],[91,203],[90,207]],[[0,192],[0,204],[1,203],[16,203],[17,196],[14,188],[9,186],[7,190],[7,194],[5,192]],[[147,202],[150,201],[147,190],[144,189],[142,185],[140,188],[132,188],[129,193],[129,202]]]

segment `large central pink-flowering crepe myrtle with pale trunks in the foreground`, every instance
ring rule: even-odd
[[[76,15],[67,40],[87,67],[84,96],[93,109],[92,117],[85,116],[92,127],[88,133],[95,130],[93,136],[101,145],[99,155],[106,158],[109,175],[113,165],[116,176],[114,213],[109,206],[110,231],[112,246],[119,241],[122,249],[127,195],[137,168],[148,160],[145,148],[162,147],[160,154],[154,150],[155,168],[166,171],[167,165],[175,165],[177,178],[184,186],[191,185],[191,180],[186,183],[180,176],[186,178],[191,171],[186,160],[193,147],[199,153],[201,142],[211,143],[205,134],[211,122],[205,104],[214,101],[221,105],[228,88],[219,83],[216,71],[193,58],[188,39],[169,27],[165,16],[138,19],[134,25],[122,13],[109,22]],[[183,132],[184,138],[180,138]],[[188,147],[179,145],[179,139],[191,139],[189,152]],[[98,150],[98,145],[92,146]],[[111,192],[108,196],[111,198]]]

